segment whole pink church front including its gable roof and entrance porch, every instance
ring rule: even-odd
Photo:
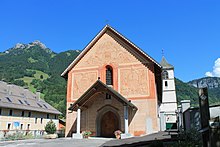
[[[160,131],[162,70],[106,25],[61,74],[67,79],[66,136],[85,130],[101,137],[114,137],[116,130],[125,136]]]

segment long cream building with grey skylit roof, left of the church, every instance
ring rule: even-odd
[[[0,138],[15,132],[42,135],[52,120],[58,129],[61,113],[40,98],[40,93],[0,81]]]

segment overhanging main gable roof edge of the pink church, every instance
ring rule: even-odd
[[[106,25],[93,39],[92,41],[83,49],[83,51],[73,60],[73,62],[64,70],[64,72],[61,74],[62,77],[66,77],[66,74],[78,63],[78,61],[88,52],[88,50],[96,43],[96,41],[107,31],[112,31],[115,34],[117,34],[122,40],[130,44],[132,47],[136,49],[136,51],[152,61],[156,66],[161,68],[161,65],[157,63],[152,57],[150,57],[147,53],[145,53],[143,50],[141,50],[139,47],[137,47],[134,43],[132,43],[130,40],[128,40],[126,37],[124,37],[122,34],[120,34],[118,31],[113,29],[111,26]]]

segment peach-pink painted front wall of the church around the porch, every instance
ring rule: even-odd
[[[106,66],[110,65],[113,68],[113,89],[138,107],[129,129],[136,135],[147,133],[146,119],[149,117],[148,122],[157,131],[154,66],[140,58],[117,36],[109,31],[105,33],[68,73],[67,109],[98,77],[105,83]],[[74,130],[75,120],[76,113],[67,110],[66,135]]]

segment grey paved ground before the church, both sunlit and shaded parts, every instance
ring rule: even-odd
[[[152,141],[172,141],[172,136],[167,132],[158,132],[142,137],[127,139],[96,138],[89,139],[33,139],[0,142],[5,147],[112,147],[112,146],[145,146]]]

